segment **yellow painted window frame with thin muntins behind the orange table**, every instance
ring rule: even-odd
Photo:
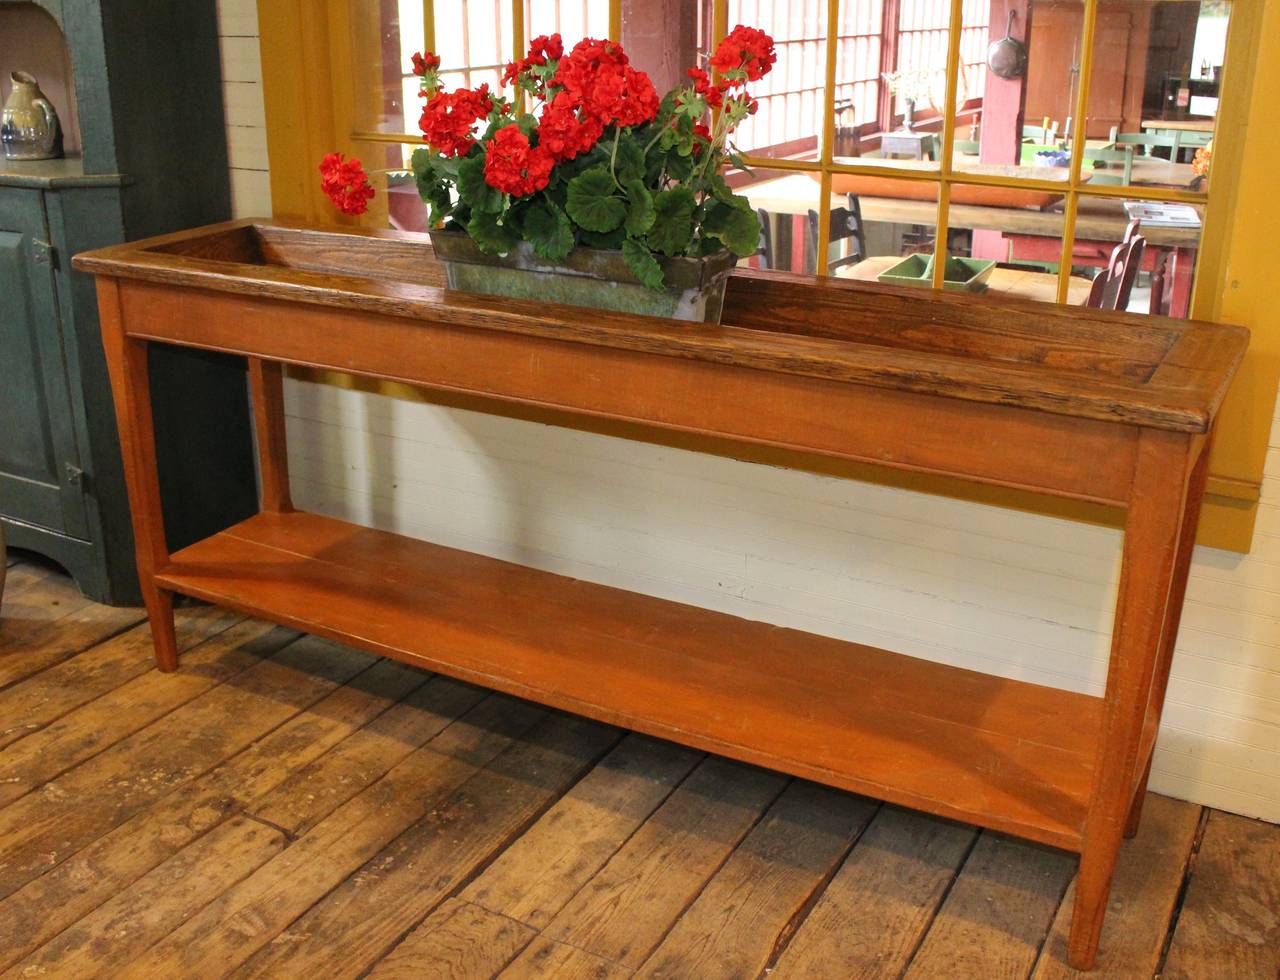
[[[319,191],[315,166],[333,150],[358,155],[379,143],[416,142],[415,134],[371,133],[355,125],[352,84],[351,9],[360,0],[259,0],[264,96],[268,118],[268,150],[271,160],[271,198],[275,215],[312,223],[343,224],[360,219],[338,215]],[[838,22],[838,0],[827,0],[828,24]],[[1212,193],[1166,191],[1143,187],[1088,187],[1080,179],[1083,147],[1073,141],[1068,182],[1004,178],[957,171],[952,166],[956,127],[955,96],[959,79],[963,0],[951,0],[951,32],[947,49],[947,97],[943,110],[942,160],[937,170],[883,165],[842,164],[832,159],[835,145],[835,106],[831,97],[836,75],[836,32],[828,31],[826,99],[822,155],[814,161],[749,157],[749,162],[769,169],[813,171],[820,178],[820,233],[828,234],[826,220],[831,207],[833,174],[893,175],[908,180],[932,182],[938,188],[936,248],[945,248],[947,212],[954,184],[987,184],[1065,192],[1062,261],[1057,298],[1064,301],[1071,243],[1079,198],[1123,197],[1126,200],[1179,201],[1206,209],[1201,247],[1197,253],[1192,316],[1243,324],[1253,340],[1240,377],[1224,407],[1215,441],[1208,495],[1198,540],[1203,544],[1247,551],[1252,540],[1262,468],[1271,429],[1276,388],[1280,384],[1280,312],[1274,299],[1272,271],[1280,267],[1280,196],[1271,191],[1272,168],[1280,147],[1270,138],[1274,119],[1280,118],[1280,0],[1235,0],[1228,33],[1228,56],[1222,79],[1221,114],[1213,152]],[[524,3],[512,0],[513,56],[524,54]],[[728,29],[727,0],[713,0],[712,29],[716,38]],[[1085,99],[1093,58],[1093,33],[1098,0],[1084,0],[1080,84],[1076,119],[1085,118]],[[430,26],[434,10],[424,0],[424,23]],[[609,36],[621,37],[621,0],[609,0]],[[430,27],[424,46],[433,47]],[[1253,134],[1252,142],[1245,141]],[[1267,139],[1270,138],[1270,142]],[[385,201],[385,194],[379,196]],[[1248,200],[1248,207],[1238,202]],[[385,207],[385,205],[383,205]],[[385,224],[385,212],[371,212],[366,224]],[[824,253],[829,242],[820,242]],[[934,285],[941,285],[943,264],[934,262]],[[334,379],[326,379],[334,380]],[[352,384],[351,380],[342,381]],[[356,383],[358,384],[358,383]],[[412,398],[448,400],[440,395],[397,388],[397,394]],[[451,403],[456,403],[453,399]],[[479,407],[479,406],[475,406]],[[484,406],[493,411],[493,406]],[[511,409],[504,409],[511,411]],[[545,418],[544,418],[545,416]],[[563,425],[566,420],[534,409],[521,417],[539,417]],[[582,429],[622,434],[625,425],[573,423]],[[667,445],[744,458],[741,447],[721,447],[699,436],[627,431]],[[759,449],[746,452],[758,462],[785,464],[844,477],[904,486],[924,493],[1012,507],[1097,523],[1117,525],[1121,516],[1089,504],[1055,502],[1032,494],[996,487],[974,487],[954,480],[931,476],[887,475],[873,466],[814,461],[796,454]]]

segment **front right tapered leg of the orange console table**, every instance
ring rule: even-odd
[[[1147,705],[1157,677],[1162,633],[1174,592],[1192,438],[1143,431],[1138,444],[1124,559],[1111,638],[1106,709],[1093,793],[1084,823],[1068,962],[1093,965],[1111,875],[1133,801]]]

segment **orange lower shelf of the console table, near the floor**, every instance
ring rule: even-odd
[[[156,583],[611,724],[1079,851],[1102,701],[302,512]]]

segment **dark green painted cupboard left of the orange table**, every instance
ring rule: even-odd
[[[0,0],[0,74],[15,69],[61,102],[69,152],[0,159],[0,521],[86,595],[136,603],[93,284],[70,257],[229,217],[214,0]],[[151,375],[180,548],[256,507],[244,366],[160,348]]]

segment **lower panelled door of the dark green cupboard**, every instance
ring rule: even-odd
[[[0,187],[0,514],[87,535],[42,193]]]

